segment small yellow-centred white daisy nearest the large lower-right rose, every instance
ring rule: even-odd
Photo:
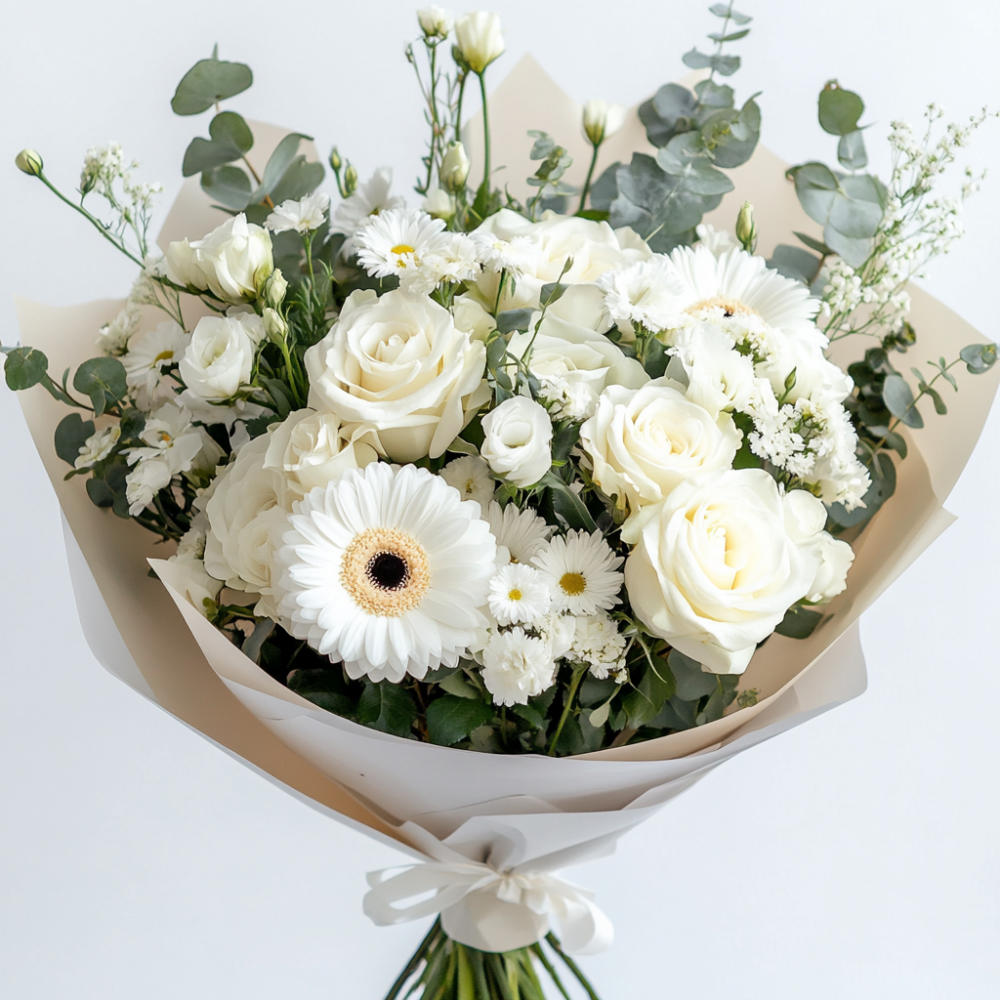
[[[618,603],[624,574],[618,572],[621,556],[616,556],[600,531],[569,531],[557,535],[532,563],[552,581],[555,611],[572,615],[592,615],[598,608]]]

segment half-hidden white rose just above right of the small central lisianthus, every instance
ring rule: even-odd
[[[531,345],[529,366],[542,384],[543,396],[578,396],[579,410],[571,414],[574,418],[589,417],[609,385],[638,389],[649,381],[642,365],[626,357],[607,337],[548,313],[535,334],[537,319],[532,317],[528,332],[511,336],[507,352],[521,358]]]

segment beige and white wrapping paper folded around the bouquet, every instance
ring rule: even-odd
[[[512,192],[518,190],[516,179],[534,169],[527,158],[528,128],[552,132],[570,147],[577,168],[585,163],[579,107],[530,57],[493,96],[491,118],[497,162],[507,164]],[[252,158],[263,162],[283,132],[258,125],[255,133],[258,141]],[[474,122],[464,138],[475,157]],[[601,167],[644,148],[645,136],[633,111],[625,128],[602,150]],[[736,190],[707,221],[729,228],[739,204],[752,201],[762,232],[762,253],[769,253],[776,243],[794,242],[793,230],[815,232],[785,181],[784,170],[773,154],[759,148],[750,163],[733,171]],[[200,237],[221,221],[196,182],[188,181],[167,216],[160,244],[183,236]],[[950,357],[959,347],[984,339],[919,289],[913,289],[912,296],[912,320],[920,334],[915,360],[941,354]],[[45,351],[53,371],[75,367],[93,354],[97,328],[113,318],[120,306],[106,301],[53,309],[19,301],[22,341]],[[860,356],[864,346],[849,339],[838,345],[835,360],[846,364]],[[176,593],[175,605],[168,589],[149,578],[146,560],[164,559],[169,555],[164,546],[137,524],[94,507],[82,479],[63,481],[65,464],[55,455],[52,435],[65,408],[40,388],[21,394],[20,399],[66,521],[126,647],[113,651],[106,630],[103,638],[98,636],[101,630],[94,619],[106,612],[96,607],[88,590],[88,574],[78,565],[74,586],[84,630],[98,658],[147,696],[151,693],[177,718],[318,807],[332,810],[352,825],[361,824],[373,836],[406,843],[400,823],[413,816],[424,816],[421,825],[425,829],[446,836],[470,815],[468,810],[488,814],[520,808],[526,812],[558,809],[572,812],[573,821],[578,822],[581,813],[638,806],[640,800],[655,799],[659,805],[733,753],[859,694],[864,688],[864,662],[857,620],[951,522],[942,501],[975,446],[998,374],[963,379],[948,416],[929,417],[928,426],[910,440],[909,458],[898,464],[896,495],[855,544],[849,587],[828,609],[832,617],[804,641],[773,636],[751,662],[741,686],[759,690],[756,706],[731,711],[717,722],[688,732],[559,761],[481,757],[364,730],[329,716],[273,681],[190,606],[182,606]],[[72,565],[72,545],[70,550]],[[158,564],[157,570],[169,582],[170,566]],[[120,665],[113,665],[112,660]],[[316,733],[319,736],[314,740]],[[392,769],[404,761],[406,770],[427,776],[426,795],[420,791],[414,798],[412,788],[384,791],[375,775],[361,775],[367,784],[356,775],[352,778],[359,770],[357,760],[331,759],[331,746],[360,754],[362,761],[374,763],[378,758],[379,766],[385,768],[386,787],[391,784]],[[431,786],[454,785],[456,769],[466,772],[462,782],[468,782],[469,790],[461,791],[466,786],[460,782],[457,798],[452,795],[445,802]],[[485,782],[477,777],[486,773],[491,777]],[[567,782],[571,794],[560,795],[559,788]],[[435,819],[428,813],[438,816]]]

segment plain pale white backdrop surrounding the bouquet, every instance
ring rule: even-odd
[[[715,30],[705,6],[508,0],[493,84],[531,51],[578,100],[634,103],[681,75],[681,53]],[[744,97],[763,91],[764,141],[790,162],[833,158],[814,110],[831,77],[866,98],[883,174],[890,119],[916,121],[931,100],[955,116],[1000,105],[988,0],[745,6],[756,20],[734,49],[744,68],[733,82]],[[83,150],[114,138],[165,184],[165,207],[207,124],[168,102],[215,41],[255,71],[232,105],[247,117],[311,132],[324,151],[336,141],[363,176],[391,163],[400,189],[418,169],[408,3],[53,0],[11,4],[4,22],[4,343],[17,339],[15,292],[63,305],[124,295],[131,280],[15,171],[14,154],[35,146],[70,190]],[[925,284],[996,337],[1000,122],[966,161],[998,176]],[[605,1000],[997,996],[998,443],[995,409],[949,501],[957,525],[865,616],[868,692],[738,757],[616,858],[571,875],[617,927],[614,949],[585,963]],[[57,505],[5,387],[0,470],[0,995],[378,1000],[424,930],[380,930],[361,914],[364,872],[400,856],[96,663]]]

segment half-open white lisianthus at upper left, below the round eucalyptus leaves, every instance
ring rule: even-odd
[[[261,226],[247,222],[242,212],[202,240],[171,243],[166,262],[171,281],[210,290],[234,304],[255,299],[257,289],[274,270],[271,237]]]

